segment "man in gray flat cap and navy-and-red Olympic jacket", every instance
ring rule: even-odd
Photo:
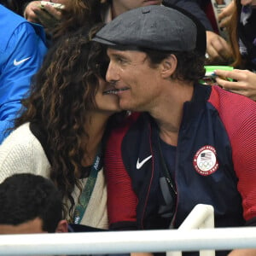
[[[205,38],[191,15],[163,6],[119,15],[94,38],[132,112],[105,155],[113,230],[178,228],[200,203],[214,207],[216,227],[256,224],[256,103],[197,83]],[[245,253],[256,252],[230,255]]]

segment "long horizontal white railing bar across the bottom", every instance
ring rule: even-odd
[[[224,250],[256,247],[256,227],[2,235],[0,255]]]

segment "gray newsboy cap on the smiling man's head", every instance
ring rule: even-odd
[[[189,51],[196,48],[197,26],[177,9],[150,5],[131,9],[96,33],[94,41],[110,46]]]

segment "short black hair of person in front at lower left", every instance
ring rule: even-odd
[[[62,219],[61,195],[49,179],[30,173],[15,174],[0,183],[0,224],[18,225],[35,218],[54,233]]]

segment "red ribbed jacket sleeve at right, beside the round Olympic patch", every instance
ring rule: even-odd
[[[256,223],[256,103],[246,96],[224,90],[219,94],[219,90],[214,86],[211,102],[218,109],[230,137],[243,217],[252,225]]]

